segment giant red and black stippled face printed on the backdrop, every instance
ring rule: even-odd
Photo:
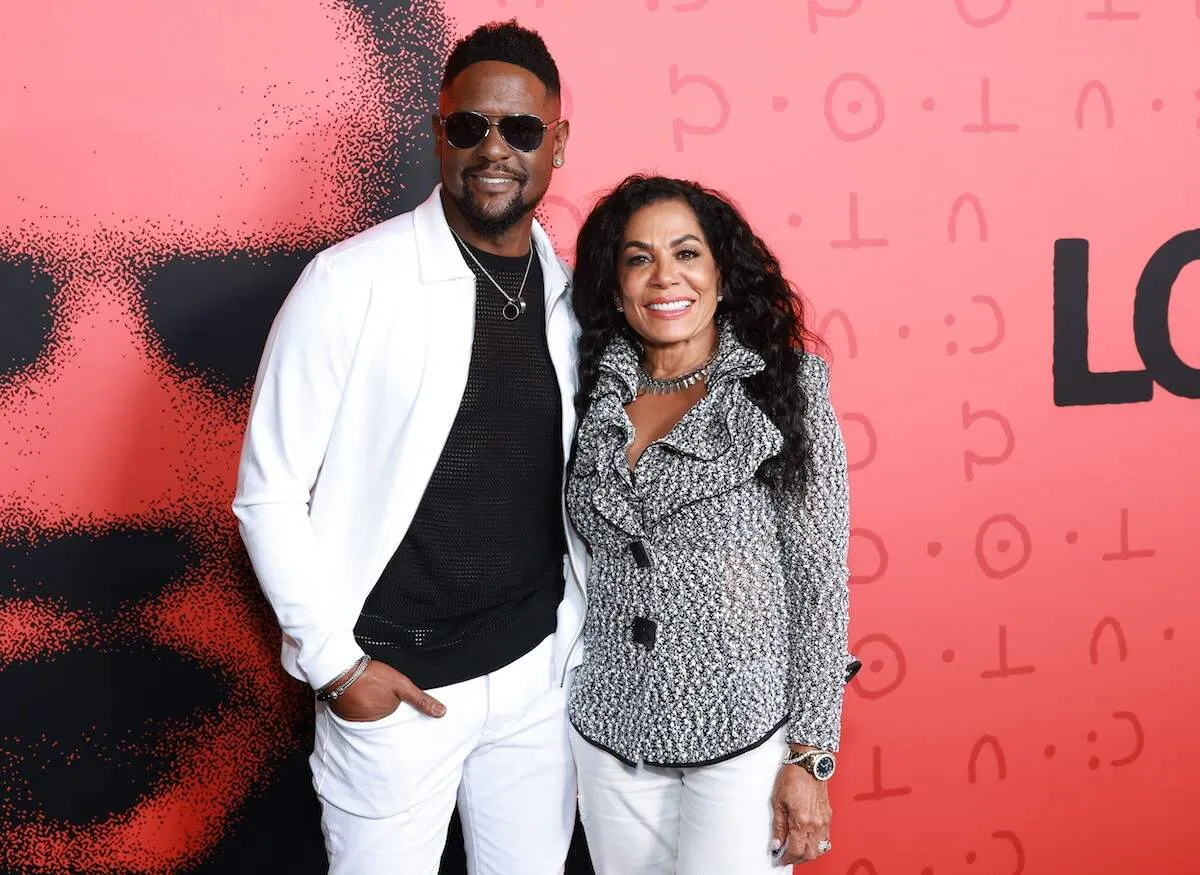
[[[270,318],[428,112],[372,32],[328,0],[0,29],[0,869],[187,868],[299,743],[229,502]]]

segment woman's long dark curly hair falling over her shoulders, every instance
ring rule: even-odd
[[[635,174],[605,194],[592,209],[575,250],[571,302],[580,320],[580,418],[599,379],[600,358],[618,334],[637,341],[617,311],[617,262],[625,226],[643,206],[682,200],[700,222],[716,260],[724,300],[718,318],[733,335],[758,353],[767,366],[744,380],[746,394],[784,436],[779,455],[763,463],[758,478],[774,489],[803,487],[808,467],[804,413],[808,398],[800,385],[802,349],[820,340],[804,319],[804,304],[784,278],[779,259],[722,194],[702,185],[666,176]]]

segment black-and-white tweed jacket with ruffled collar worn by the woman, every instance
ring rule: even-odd
[[[720,330],[708,392],[630,471],[638,355],[619,337],[577,434],[568,511],[588,544],[583,664],[570,719],[619,759],[716,762],[787,726],[836,750],[850,661],[846,450],[828,368],[803,355],[811,469],[756,477],[782,436],[743,380],[764,362]]]

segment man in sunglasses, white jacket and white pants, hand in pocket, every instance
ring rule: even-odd
[[[557,66],[515,23],[448,60],[442,184],[318,254],[271,329],[234,513],[317,691],[331,873],[558,873],[575,817],[568,274],[533,209],[565,157]]]

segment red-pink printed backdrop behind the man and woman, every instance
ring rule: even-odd
[[[14,10],[0,861],[311,859],[302,696],[227,513],[247,380],[306,253],[428,191],[446,40],[509,16],[566,84],[563,248],[624,174],[698,179],[832,348],[865,665],[811,868],[1190,873],[1190,0]]]

